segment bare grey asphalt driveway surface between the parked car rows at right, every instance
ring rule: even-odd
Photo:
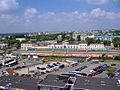
[[[112,62],[111,62],[111,63],[112,63]],[[106,64],[111,65],[111,63],[109,63],[109,64],[106,63]],[[116,64],[116,66],[114,66],[114,67],[117,68],[117,70],[120,69],[120,63],[116,63],[116,62],[114,62],[114,63]],[[49,73],[49,74],[61,75],[61,74],[63,74],[63,73],[69,73],[70,71],[75,71],[76,68],[86,65],[87,68],[86,68],[86,69],[83,69],[83,70],[80,71],[80,72],[81,72],[81,73],[86,73],[86,74],[88,75],[88,74],[90,74],[90,70],[92,70],[93,68],[99,66],[100,64],[103,64],[103,63],[102,63],[102,62],[99,62],[98,64],[91,64],[91,61],[90,61],[90,62],[83,62],[83,63],[78,64],[77,66],[74,66],[74,67],[66,67],[66,68],[63,68],[63,69],[61,69],[61,70],[59,70],[59,71],[55,71],[55,72],[52,72],[52,73]],[[107,75],[106,73],[107,73],[107,72],[104,71],[103,73],[98,74],[98,75],[96,75],[96,76],[94,76],[94,77],[108,78],[108,75]],[[39,78],[40,78],[40,79],[43,79],[43,78],[45,78],[47,75],[48,75],[48,74],[42,75],[42,76],[40,76]]]

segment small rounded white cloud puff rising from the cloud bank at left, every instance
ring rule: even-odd
[[[35,17],[37,14],[38,14],[38,11],[36,8],[27,8],[24,12],[24,15],[26,18]]]

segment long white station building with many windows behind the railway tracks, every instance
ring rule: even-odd
[[[21,50],[39,50],[39,49],[56,49],[56,50],[64,50],[64,49],[72,49],[72,50],[104,50],[104,44],[50,44],[47,46],[38,46],[35,44],[21,44]]]

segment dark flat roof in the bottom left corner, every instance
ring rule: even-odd
[[[11,84],[12,88],[20,88],[25,90],[37,90],[38,79],[20,76],[2,76],[0,77],[0,86],[5,87]]]

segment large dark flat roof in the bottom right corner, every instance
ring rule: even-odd
[[[117,79],[77,77],[74,89],[120,90],[120,84]]]

